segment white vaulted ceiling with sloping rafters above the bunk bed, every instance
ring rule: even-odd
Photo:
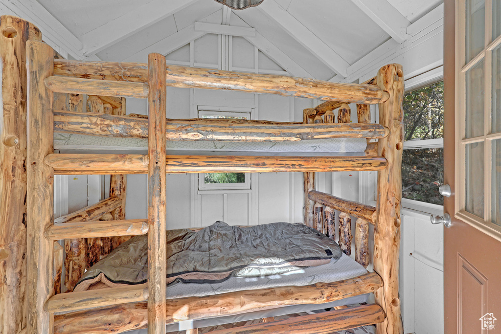
[[[184,5],[179,5],[178,0],[38,0],[36,5],[42,5],[48,15],[82,42],[83,57],[95,54],[101,60],[123,61],[150,46],[161,45],[159,41],[185,39],[189,43],[190,38],[200,37],[200,32],[192,29],[194,22],[223,23],[221,14],[226,11],[214,0],[183,2]],[[329,80],[337,74],[346,77],[351,65],[385,42],[405,41],[406,28],[441,3],[442,0],[265,0],[256,8],[232,11],[229,25],[255,28],[312,77]],[[103,40],[89,43],[96,36]]]

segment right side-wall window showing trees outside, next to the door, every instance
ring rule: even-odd
[[[406,93],[403,109],[402,197],[443,205],[443,81]]]

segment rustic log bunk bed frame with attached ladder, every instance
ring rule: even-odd
[[[374,293],[375,304],[338,307],[287,320],[266,318],[260,324],[214,333],[279,333],[284,328],[291,333],[328,333],[373,323],[379,334],[403,332],[398,295],[404,91],[400,65],[382,67],[376,77],[363,84],[341,84],[166,66],[160,54],[150,54],[147,64],[68,61],[55,57],[53,49],[41,42],[40,31],[19,18],[3,16],[0,32],[4,109],[6,105],[14,106],[11,113],[4,111],[4,128],[0,130],[2,175],[12,170],[10,178],[0,180],[2,208],[9,208],[2,210],[0,217],[0,262],[6,261],[5,266],[0,265],[0,274],[19,280],[18,290],[0,285],[0,313],[4,319],[21,318],[14,321],[9,332],[118,333],[148,327],[148,333],[159,334],[165,333],[167,322],[279,305],[321,304],[368,292]],[[167,86],[270,93],[326,102],[305,109],[303,123],[166,120]],[[91,113],[78,113],[78,108],[73,108],[82,108],[82,94],[89,96],[87,109]],[[126,97],[148,99],[149,117],[125,116]],[[358,123],[350,123],[348,103],[357,104]],[[379,124],[370,124],[369,104],[379,104]],[[336,108],[338,123],[332,112]],[[27,123],[23,123],[19,115],[26,110]],[[18,118],[10,121],[13,115]],[[56,154],[55,131],[148,138],[148,154]],[[362,157],[168,156],[165,148],[167,140],[284,141],[337,137],[378,141],[371,142]],[[20,165],[24,157],[26,171]],[[377,207],[315,190],[315,172],[344,170],[378,171]],[[304,172],[306,225],[334,238],[334,210],[341,211],[339,242],[347,254],[352,245],[350,216],[357,218],[355,258],[365,267],[369,264],[368,228],[369,224],[374,225],[373,272],[333,283],[166,300],[166,173],[278,171]],[[126,220],[124,174],[133,173],[148,174],[148,216]],[[55,220],[56,174],[111,174],[110,198]],[[23,228],[15,229],[24,222],[23,194],[27,195],[26,232]],[[5,217],[6,214],[12,216]],[[105,255],[138,234],[148,234],[148,283],[59,293],[63,252],[56,241],[65,240],[65,286],[71,290],[85,268],[82,242],[99,243],[101,255]],[[23,246],[24,240],[27,244]],[[13,248],[14,244],[22,245],[21,253],[26,251],[26,263],[21,261],[22,254]],[[13,263],[26,264],[26,278],[25,269],[16,268]],[[13,273],[2,272],[7,270],[4,267]],[[13,296],[19,300],[12,300]],[[26,322],[22,320],[24,309]],[[56,312],[62,314],[55,315]],[[188,332],[196,333],[196,329]]]

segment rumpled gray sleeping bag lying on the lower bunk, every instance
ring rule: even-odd
[[[147,281],[147,236],[124,242],[85,272],[74,291]],[[338,244],[304,224],[250,227],[217,221],[199,231],[167,231],[167,283],[259,277],[339,259]]]

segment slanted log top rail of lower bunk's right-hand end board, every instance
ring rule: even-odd
[[[363,218],[372,224],[376,221],[376,208],[370,205],[349,201],[347,199],[339,198],[325,192],[310,191],[308,198],[314,202],[321,203],[341,212],[346,212],[349,215],[357,218]]]

